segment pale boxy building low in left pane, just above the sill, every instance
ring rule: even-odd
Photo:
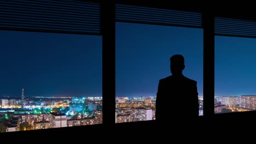
[[[50,113],[51,128],[67,127],[67,116],[61,112]]]

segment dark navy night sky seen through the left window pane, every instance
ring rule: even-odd
[[[101,97],[102,37],[1,31],[0,97]]]

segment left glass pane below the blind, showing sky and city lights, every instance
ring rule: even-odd
[[[1,132],[102,123],[102,38],[1,31]]]

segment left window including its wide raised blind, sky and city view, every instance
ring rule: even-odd
[[[1,1],[1,132],[102,123],[100,6]]]

